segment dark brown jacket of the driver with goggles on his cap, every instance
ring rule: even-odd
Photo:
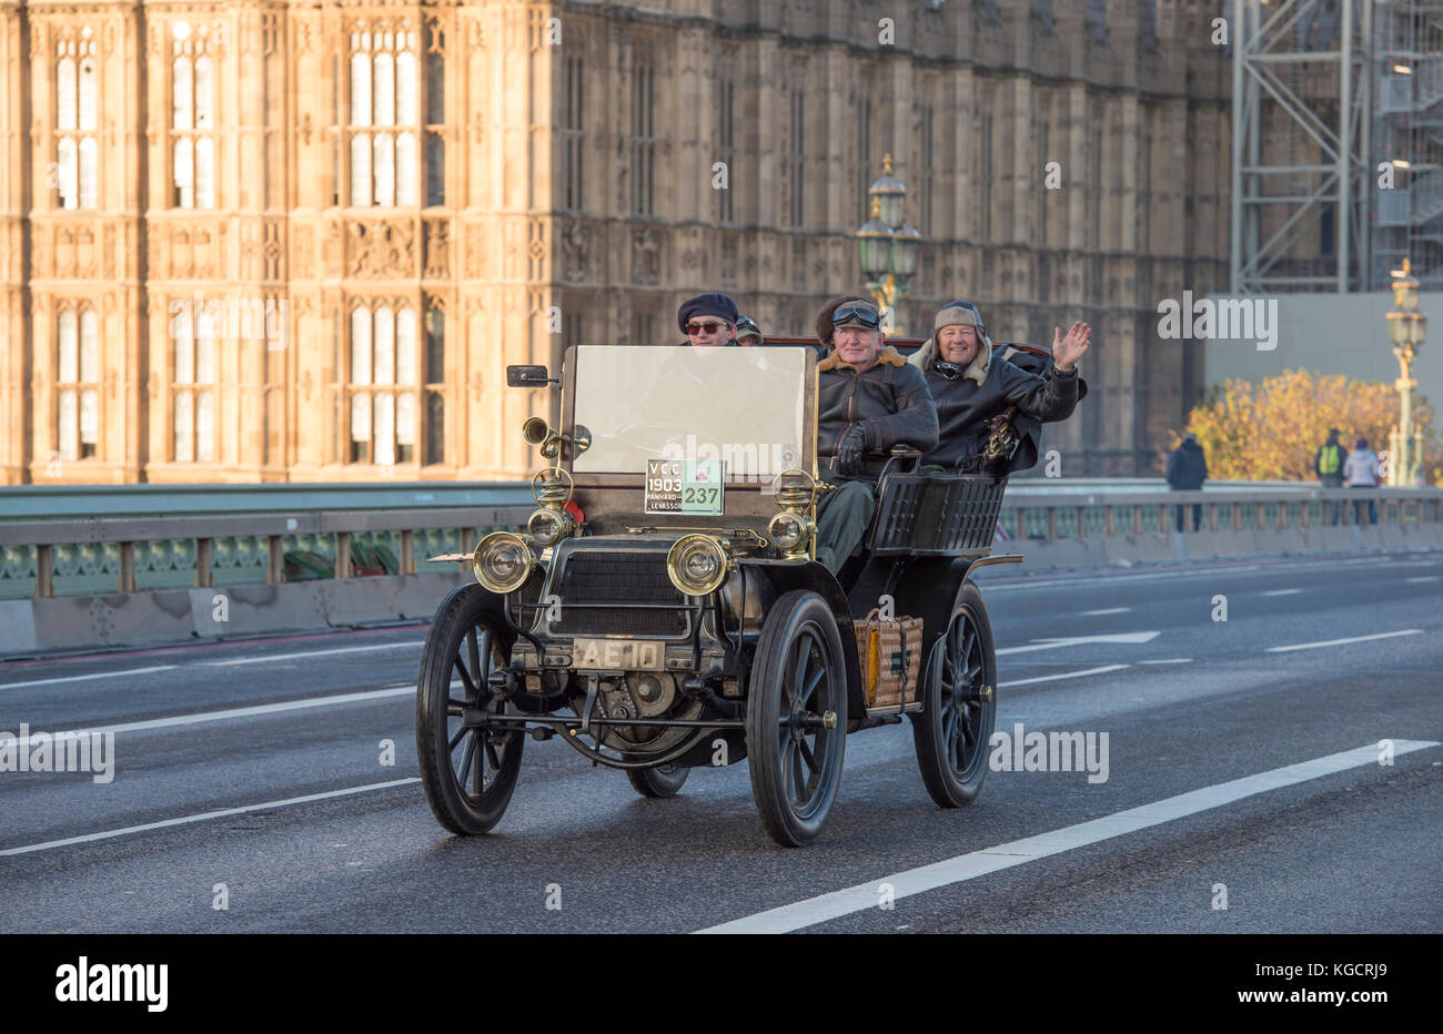
[[[890,345],[864,371],[843,362],[833,349],[817,363],[817,466],[834,467],[837,443],[861,424],[867,457],[861,479],[876,480],[892,446],[921,451],[937,447],[937,407],[926,379]]]

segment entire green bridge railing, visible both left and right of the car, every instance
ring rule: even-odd
[[[1443,522],[1443,489],[1431,487],[1075,487],[1040,479],[1010,485],[999,526],[1017,542],[1307,529],[1330,525],[1335,505],[1338,523],[1367,525],[1368,502],[1381,525]],[[534,509],[519,503],[524,493],[506,486],[489,506],[0,519],[0,598],[414,574],[427,557],[469,552],[485,531],[519,526]],[[1193,505],[1202,508],[1199,528]]]

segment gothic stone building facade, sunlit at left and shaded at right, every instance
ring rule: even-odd
[[[0,0],[0,483],[524,476],[506,363],[678,340],[701,290],[805,333],[885,153],[903,326],[1087,319],[1052,444],[1147,472],[1202,375],[1157,301],[1225,277],[1214,14]]]

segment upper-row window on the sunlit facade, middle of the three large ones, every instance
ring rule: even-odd
[[[170,182],[176,208],[215,208],[215,62],[202,25],[170,29]]]

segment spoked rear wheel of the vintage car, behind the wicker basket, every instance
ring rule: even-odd
[[[962,658],[965,656],[965,663]],[[991,686],[991,698],[964,698],[964,688]],[[924,672],[922,711],[912,715],[912,738],[922,782],[942,808],[977,800],[987,777],[993,725],[997,720],[997,652],[983,594],[962,586],[947,630],[937,640]]]

